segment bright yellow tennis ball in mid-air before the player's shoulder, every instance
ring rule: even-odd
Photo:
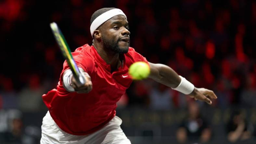
[[[128,73],[133,79],[141,80],[148,77],[150,68],[145,62],[135,62],[130,66]]]

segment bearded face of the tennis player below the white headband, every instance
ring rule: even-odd
[[[100,26],[104,48],[118,54],[127,53],[130,45],[128,21],[123,15],[117,15]]]

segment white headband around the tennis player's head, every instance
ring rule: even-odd
[[[99,15],[95,20],[92,22],[90,30],[91,30],[91,35],[93,36],[94,30],[96,30],[101,24],[103,24],[105,21],[109,20],[110,18],[117,16],[117,15],[123,15],[123,11],[121,9],[115,8],[111,9],[109,11],[106,11],[105,13]],[[126,18],[126,16],[125,16]]]

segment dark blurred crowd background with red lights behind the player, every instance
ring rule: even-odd
[[[251,0],[1,0],[0,143],[36,144],[64,59],[49,27],[57,22],[71,51],[92,44],[90,18],[103,7],[126,14],[131,47],[172,67],[212,105],[150,79],[134,81],[117,115],[132,144],[256,141],[256,2]]]

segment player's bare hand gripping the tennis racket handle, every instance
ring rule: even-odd
[[[84,76],[85,84],[84,85],[79,85],[79,83],[76,81],[76,79],[72,76],[71,86],[75,89],[75,91],[77,93],[88,93],[93,89],[93,84],[92,84],[92,81],[91,81],[91,77],[86,72],[82,72],[82,75]]]

